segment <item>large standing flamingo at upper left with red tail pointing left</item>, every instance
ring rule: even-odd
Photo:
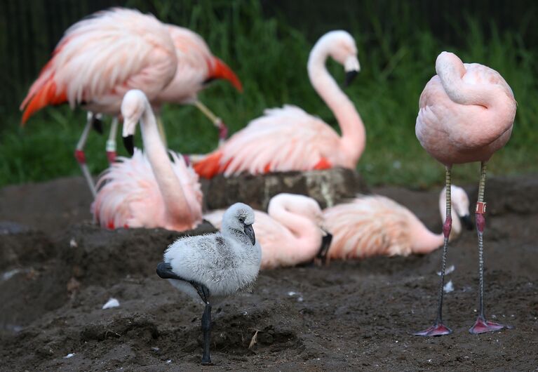
[[[153,15],[125,8],[94,13],[65,32],[20,105],[25,110],[22,123],[39,109],[64,102],[117,117],[127,91],[138,88],[153,100],[172,81],[176,69],[173,41]],[[93,118],[88,113],[75,158],[95,196],[83,152]],[[116,128],[114,119],[107,142],[111,162],[116,154]]]

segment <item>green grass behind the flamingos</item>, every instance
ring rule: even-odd
[[[129,4],[139,5],[137,1]],[[483,25],[473,18],[464,25],[454,25],[464,44],[459,48],[443,44],[419,22],[415,27],[409,6],[394,4],[400,5],[389,7],[386,16],[400,22],[382,25],[373,13],[361,28],[347,22],[356,37],[362,71],[346,93],[366,126],[367,145],[358,171],[367,182],[421,188],[443,182],[443,166],[431,159],[415,138],[418,98],[435,74],[435,59],[443,50],[457,53],[464,61],[497,69],[516,95],[518,113],[513,135],[490,161],[490,174],[537,173],[535,49],[526,46],[516,32],[501,34],[495,25],[486,25],[484,32]],[[154,1],[154,8],[162,20],[199,32],[213,53],[229,62],[243,81],[243,94],[217,82],[200,95],[232,132],[259,117],[264,108],[283,103],[299,105],[337,127],[307,78],[306,62],[315,39],[307,40],[283,17],[264,18],[260,5],[247,1],[182,2],[181,8],[173,2]],[[337,81],[343,81],[342,67],[332,61],[328,67]],[[78,175],[72,152],[85,117],[81,110],[50,107],[20,128],[20,114],[6,114],[7,125],[0,132],[0,185]],[[217,144],[217,132],[194,107],[166,106],[163,121],[173,150],[203,153]],[[106,135],[99,138],[95,132],[88,140],[86,154],[93,173],[107,166],[105,140]],[[120,154],[125,154],[119,148]],[[454,180],[478,182],[478,173],[478,164],[458,166]]]

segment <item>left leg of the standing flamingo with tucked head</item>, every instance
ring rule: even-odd
[[[448,328],[443,324],[443,291],[445,286],[445,269],[446,269],[446,258],[448,253],[448,237],[450,237],[450,230],[452,230],[452,215],[451,207],[452,203],[450,202],[450,182],[451,182],[451,167],[446,167],[445,173],[445,185],[446,185],[446,218],[445,223],[443,224],[443,235],[445,236],[445,242],[443,244],[443,258],[441,260],[441,284],[439,286],[439,300],[437,307],[437,317],[436,321],[433,323],[433,326],[415,333],[415,336],[443,336],[452,333],[452,329]]]

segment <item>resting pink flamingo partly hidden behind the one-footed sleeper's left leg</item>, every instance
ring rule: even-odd
[[[445,215],[445,192],[439,209]],[[472,228],[469,197],[452,185],[452,205],[457,216]],[[380,195],[361,196],[323,211],[325,227],[332,234],[328,258],[367,258],[372,255],[426,254],[443,245],[443,234],[433,234],[408,208]],[[454,220],[450,239],[459,236],[462,222]]]

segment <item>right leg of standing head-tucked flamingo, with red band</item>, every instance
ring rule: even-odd
[[[485,166],[486,162],[483,161],[480,164],[480,184],[478,185],[478,202],[476,203],[476,230],[478,233],[478,273],[480,275],[479,281],[479,307],[478,318],[475,324],[469,329],[470,333],[478,334],[485,332],[499,331],[502,328],[512,328],[504,324],[494,323],[487,321],[485,318],[484,310],[484,247],[483,247],[483,234],[485,230]]]

